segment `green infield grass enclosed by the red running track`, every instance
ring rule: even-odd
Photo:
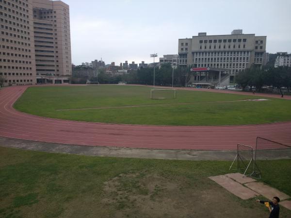
[[[129,85],[31,87],[14,107],[43,117],[125,124],[235,125],[291,120],[291,101],[240,101],[260,97],[187,90],[177,90],[177,99],[150,100],[150,89]]]

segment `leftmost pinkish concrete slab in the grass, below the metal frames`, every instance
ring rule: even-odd
[[[230,179],[225,175],[210,176],[209,178],[243,200],[259,196],[257,192],[244,187],[242,184]]]

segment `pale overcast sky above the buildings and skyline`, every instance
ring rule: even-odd
[[[70,6],[72,63],[152,63],[178,54],[178,39],[266,35],[270,53],[291,53],[291,0],[63,0]]]

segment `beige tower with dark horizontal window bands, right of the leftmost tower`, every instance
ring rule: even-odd
[[[69,5],[56,0],[32,0],[37,75],[70,76]]]

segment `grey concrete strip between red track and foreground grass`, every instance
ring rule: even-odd
[[[130,158],[149,158],[149,159],[169,159],[169,160],[226,160],[233,161],[236,152],[232,150],[166,150],[166,149],[134,149],[120,147],[102,146],[81,146],[66,145],[59,143],[38,142],[16,138],[0,136],[0,146],[19,148],[32,151],[46,151],[68,154],[80,154],[88,156],[107,156],[107,157],[130,157]],[[260,151],[263,159],[291,159],[291,149]]]

